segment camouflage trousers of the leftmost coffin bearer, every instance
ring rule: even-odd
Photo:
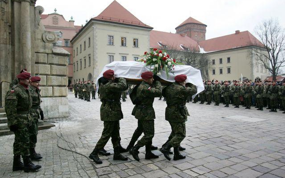
[[[104,121],[102,135],[96,144],[97,149],[103,149],[111,137],[113,148],[119,146],[120,142],[120,121]]]

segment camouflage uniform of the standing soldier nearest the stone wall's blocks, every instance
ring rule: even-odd
[[[29,136],[30,136],[30,148],[35,148],[37,143],[38,135],[38,119],[40,119],[41,110],[41,95],[40,89],[30,85],[29,92],[32,96],[32,109],[30,110],[30,115],[32,116],[32,125],[29,127]]]

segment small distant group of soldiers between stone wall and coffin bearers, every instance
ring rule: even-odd
[[[84,81],[84,83],[83,81],[79,81],[79,83],[76,81],[73,86],[73,91],[75,98],[78,96],[79,99],[90,102],[90,94],[92,94],[92,99],[96,99],[96,84],[94,81],[92,81],[92,83],[90,83],[90,80]]]

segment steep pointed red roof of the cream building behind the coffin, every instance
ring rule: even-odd
[[[103,12],[101,12],[101,14],[93,19],[152,28],[151,26],[142,23],[117,1],[113,1]]]

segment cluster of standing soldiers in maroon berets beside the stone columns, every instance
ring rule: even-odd
[[[30,172],[41,168],[41,165],[35,165],[31,161],[42,158],[35,152],[38,120],[44,119],[44,113],[40,106],[40,81],[40,77],[31,77],[31,74],[23,69],[11,82],[10,89],[5,96],[8,127],[15,134],[13,171]]]

